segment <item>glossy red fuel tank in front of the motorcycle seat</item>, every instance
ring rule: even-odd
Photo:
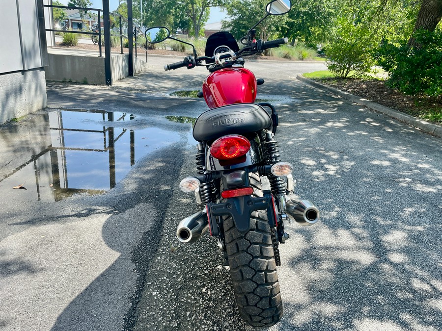
[[[245,68],[225,68],[211,73],[204,80],[203,94],[209,108],[232,103],[254,102],[256,78]]]

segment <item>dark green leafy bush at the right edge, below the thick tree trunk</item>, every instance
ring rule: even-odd
[[[378,64],[388,71],[387,84],[409,94],[425,93],[442,96],[442,35],[438,31],[416,31],[417,47],[404,41],[395,46],[384,42],[376,56]]]

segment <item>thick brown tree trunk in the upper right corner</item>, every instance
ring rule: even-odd
[[[419,29],[434,31],[442,18],[442,0],[422,0],[422,4],[417,14],[416,24],[413,32]],[[419,47],[413,35],[408,40],[409,47]]]

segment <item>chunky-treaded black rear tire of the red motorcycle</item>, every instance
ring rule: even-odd
[[[254,195],[262,196],[259,176],[250,175]],[[271,229],[265,211],[250,217],[250,230],[238,231],[231,217],[223,221],[225,247],[237,306],[254,327],[270,327],[282,316]]]

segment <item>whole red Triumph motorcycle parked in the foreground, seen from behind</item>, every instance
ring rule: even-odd
[[[193,243],[209,229],[218,239],[239,312],[255,327],[272,326],[282,315],[276,266],[278,245],[289,238],[284,223],[294,220],[310,226],[320,217],[315,204],[294,198],[293,166],[280,160],[274,139],[276,109],[270,103],[254,103],[257,85],[264,80],[244,68],[243,57],[287,43],[287,38],[256,39],[254,28],[269,15],[290,9],[289,0],[270,2],[267,15],[241,39],[241,49],[229,32],[218,32],[207,39],[201,57],[192,44],[170,37],[166,27],[145,32],[150,43],[170,38],[193,47],[193,56],[166,65],[166,71],[206,66],[210,72],[199,95],[210,110],[193,127],[199,142],[197,173],[180,183],[182,191],[194,192],[201,211],[182,220],[176,234],[181,242]]]

